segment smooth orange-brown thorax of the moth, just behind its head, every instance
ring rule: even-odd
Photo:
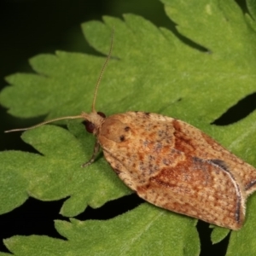
[[[131,127],[110,117],[102,123],[101,135],[115,143],[124,143],[131,137]]]

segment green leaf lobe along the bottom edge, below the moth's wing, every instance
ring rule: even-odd
[[[177,229],[178,226],[178,229]],[[67,241],[15,236],[4,241],[12,253],[27,255],[198,255],[195,220],[149,204],[106,221],[56,221]],[[187,244],[187,240],[191,240]],[[192,246],[197,244],[197,247]],[[41,253],[42,252],[42,253]]]

